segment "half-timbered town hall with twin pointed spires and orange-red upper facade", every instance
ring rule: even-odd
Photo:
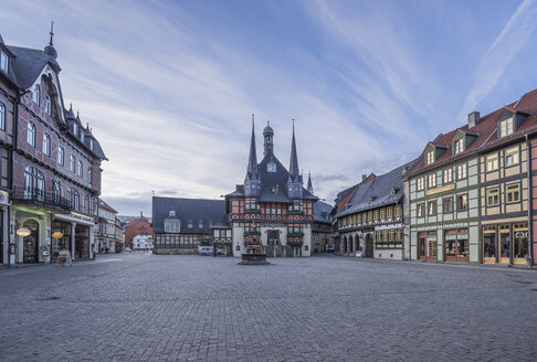
[[[263,137],[263,159],[257,163],[252,120],[244,183],[225,195],[234,256],[245,253],[249,244],[263,247],[267,256],[309,256],[314,204],[318,198],[304,188],[294,126],[288,171],[274,153],[274,130],[270,125],[264,128]]]

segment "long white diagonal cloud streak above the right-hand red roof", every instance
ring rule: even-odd
[[[460,119],[464,119],[495,88],[509,63],[534,34],[536,26],[537,1],[525,0],[481,58],[474,84],[460,111]]]

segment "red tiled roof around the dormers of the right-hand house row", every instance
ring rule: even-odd
[[[513,135],[497,138],[497,120],[498,117],[506,110],[522,113],[528,116]],[[451,141],[457,130],[475,136],[475,139],[472,141],[472,143],[470,143],[470,146],[465,148],[463,152],[452,155]],[[433,163],[428,166],[425,166],[425,160],[424,158],[422,158],[418,166],[410,172],[410,177],[475,155],[476,152],[486,151],[494,147],[508,143],[515,139],[522,138],[525,135],[533,132],[537,132],[537,89],[526,93],[518,99],[518,102],[513,102],[502,108],[489,113],[488,115],[481,117],[480,121],[471,129],[468,129],[468,125],[466,124],[462,127],[449,131],[445,135],[440,135],[440,137],[435,139],[435,142],[446,145],[446,150]]]

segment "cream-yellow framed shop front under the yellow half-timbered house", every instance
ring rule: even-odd
[[[482,234],[484,264],[526,264],[529,257],[528,223],[486,225]]]

